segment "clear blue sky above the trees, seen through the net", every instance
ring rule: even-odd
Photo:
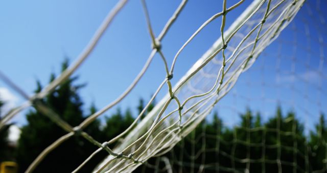
[[[237,3],[238,1],[228,1],[227,6]],[[1,1],[0,2],[0,69],[21,88],[23,88],[28,94],[32,95],[35,90],[36,79],[40,80],[43,85],[48,83],[50,73],[55,72],[59,74],[60,63],[64,57],[69,57],[71,61],[74,61],[83,48],[87,45],[87,42],[92,37],[101,21],[104,19],[108,11],[114,6],[116,1]],[[165,26],[167,20],[170,18],[174,10],[179,5],[179,1],[147,1],[152,26],[156,35],[158,35],[161,29]],[[227,15],[227,28],[231,22],[249,5],[250,1],[243,3],[237,10],[228,13]],[[325,2],[324,5],[326,4]],[[323,6],[323,5],[321,5]],[[314,6],[313,6],[314,7]],[[193,32],[209,17],[222,10],[222,1],[190,1],[177,22],[173,25],[167,36],[162,41],[162,51],[168,59],[170,66],[173,56],[182,46],[182,44],[193,34]],[[295,26],[298,28],[298,42],[299,45],[306,47],[306,37],[303,36],[303,18],[309,18],[308,10],[301,9],[298,14],[300,17],[296,20]],[[326,13],[321,14],[322,18],[326,18]],[[316,17],[318,23],[321,23],[320,18]],[[310,20],[309,20],[310,21]],[[312,21],[313,22],[313,21]],[[212,46],[215,40],[220,36],[221,19],[215,20],[211,25],[206,27],[191,44],[186,47],[177,60],[173,83],[176,83],[178,79],[185,74],[185,72],[192,66],[201,55]],[[317,26],[309,25],[311,30],[317,30]],[[325,27],[325,24],[322,25]],[[290,26],[288,27],[290,28]],[[319,28],[319,26],[318,26]],[[319,31],[324,34],[322,37],[326,38],[325,31]],[[262,102],[244,101],[242,94],[248,95],[248,97],[255,94],[259,95],[258,90],[262,90],[265,94],[265,98],[273,98],[277,100],[275,96],[275,89],[269,89],[268,87],[249,87],[246,86],[249,83],[261,82],[260,71],[255,67],[260,67],[260,64],[270,64],[272,70],[266,70],[264,75],[264,81],[266,83],[276,83],[276,49],[278,45],[292,42],[292,29],[283,33],[283,38],[266,50],[263,55],[265,58],[259,59],[258,63],[255,63],[253,70],[248,74],[244,74],[242,80],[236,85],[235,90],[231,91],[228,97],[224,98],[221,104],[218,106],[218,112],[226,116],[227,121],[236,122],[235,119],[229,119],[230,117],[236,117],[238,112],[245,110],[246,106],[253,107],[255,111],[262,109]],[[315,33],[315,32],[311,32]],[[312,37],[314,37],[312,35]],[[326,38],[327,39],[327,38]],[[326,40],[325,39],[325,40]],[[277,40],[278,41],[278,40]],[[312,47],[318,41],[312,41]],[[80,76],[79,82],[87,83],[87,86],[80,91],[80,94],[85,101],[84,109],[94,102],[100,109],[105,106],[116,97],[118,97],[128,85],[133,81],[137,73],[142,69],[143,64],[146,62],[150,52],[150,36],[146,28],[146,20],[141,6],[141,1],[131,0],[126,7],[118,14],[114,19],[112,25],[107,29],[104,36],[99,41],[98,46],[90,54],[88,59],[82,64],[80,69],[75,75]],[[292,49],[292,44],[284,46],[283,49]],[[325,47],[323,43],[323,47]],[[312,49],[313,49],[312,48]],[[297,51],[301,51],[302,48],[298,48]],[[290,51],[289,51],[290,52]],[[298,59],[308,58],[303,53],[297,53]],[[326,52],[323,50],[323,52]],[[325,53],[327,54],[327,53]],[[285,54],[283,54],[285,55]],[[291,55],[290,55],[291,56]],[[303,56],[303,58],[302,58]],[[282,57],[284,58],[284,57]],[[263,59],[266,59],[265,62]],[[310,64],[316,68],[319,64],[319,58],[311,58]],[[303,60],[305,61],[305,60]],[[326,61],[326,60],[325,60]],[[293,61],[287,64],[288,60],[283,59],[282,69],[290,71]],[[296,61],[300,64],[296,67],[296,74],[300,76],[312,73],[306,66],[305,62]],[[324,66],[326,62],[323,63]],[[258,72],[258,73],[257,73]],[[324,76],[326,75],[325,68],[322,69]],[[137,87],[130,93],[130,95],[119,106],[114,107],[111,111],[106,113],[110,115],[112,111],[115,111],[117,107],[131,107],[135,110],[139,98],[150,98],[150,95],[155,92],[158,85],[165,78],[164,65],[159,56],[155,56],[151,66],[145,76],[141,79]],[[287,75],[286,75],[287,76]],[[315,73],[313,72],[313,76]],[[270,77],[272,79],[270,79]],[[312,76],[311,76],[312,77]],[[308,78],[311,78],[310,76]],[[257,80],[253,80],[253,78]],[[314,77],[313,77],[314,78]],[[291,79],[284,77],[284,83],[289,82]],[[322,86],[326,86],[325,78],[323,78]],[[250,82],[249,82],[250,81]],[[292,81],[299,85],[300,81]],[[247,84],[242,84],[247,83]],[[305,84],[308,82],[305,82]],[[305,85],[303,84],[303,85]],[[318,85],[313,82],[312,85]],[[245,87],[244,87],[245,86]],[[260,85],[261,86],[261,85]],[[3,82],[0,81],[0,88],[4,90],[7,88]],[[167,88],[164,88],[158,96],[161,98],[166,94]],[[300,89],[300,92],[302,89]],[[312,94],[314,90],[303,89]],[[9,89],[11,93],[10,97],[16,99],[14,103],[18,105],[23,101],[15,92]],[[284,100],[300,100],[296,97],[286,97],[282,90],[278,98]],[[224,105],[232,105],[232,93],[237,95],[237,107],[233,109],[223,108]],[[260,92],[262,93],[262,92]],[[317,94],[314,94],[317,95]],[[262,94],[261,94],[262,96]],[[302,96],[299,96],[303,98]],[[318,96],[312,96],[313,99]],[[317,107],[319,109],[326,109],[325,98],[323,95],[322,105]],[[299,105],[305,105],[306,100],[300,101]],[[157,101],[159,101],[157,99]],[[235,100],[234,100],[235,101]],[[264,101],[267,111],[267,115],[271,115],[274,112],[277,103]],[[312,103],[313,104],[313,103]],[[307,104],[307,106],[310,106]],[[225,106],[226,107],[226,106]],[[290,110],[287,106],[286,110]],[[305,108],[309,110],[308,107]],[[300,112],[300,111],[299,111]],[[317,111],[318,112],[318,111]],[[307,116],[307,115],[305,115]],[[303,117],[305,117],[303,116]],[[229,118],[228,118],[229,117]],[[304,118],[303,118],[304,119]],[[19,115],[15,118],[16,122],[24,123],[24,115]],[[312,126],[312,125],[311,125]]]

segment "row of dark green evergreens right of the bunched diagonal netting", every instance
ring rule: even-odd
[[[282,113],[277,107],[267,122],[260,113],[247,109],[240,115],[239,125],[227,127],[214,113],[164,157],[169,158],[173,172],[325,172],[327,126],[321,114],[320,123],[310,138],[303,134],[303,125],[294,112]],[[308,156],[308,157],[306,157]],[[247,158],[251,163],[247,164]],[[281,162],[277,162],[277,160]],[[165,164],[159,158],[147,162],[135,172],[153,172]],[[294,165],[296,163],[296,165]]]

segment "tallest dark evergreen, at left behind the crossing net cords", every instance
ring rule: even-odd
[[[62,71],[67,67],[68,60],[65,60],[62,63]],[[54,79],[55,75],[52,74],[50,81]],[[78,91],[84,85],[75,84],[77,79],[77,76],[67,79],[51,94],[40,100],[72,126],[78,125],[85,119],[82,110],[83,102],[78,95]],[[41,91],[41,89],[41,83],[37,82],[36,92]],[[91,107],[90,112],[94,113],[95,107]],[[18,141],[17,162],[20,172],[25,171],[44,148],[66,134],[63,129],[38,110],[30,110],[26,118],[28,123],[21,128],[21,136]],[[96,137],[100,133],[99,122],[91,123],[84,131]],[[34,172],[71,172],[95,149],[97,149],[96,146],[90,144],[82,137],[74,136],[46,156]],[[96,164],[90,162],[83,167],[82,171],[90,172]]]

